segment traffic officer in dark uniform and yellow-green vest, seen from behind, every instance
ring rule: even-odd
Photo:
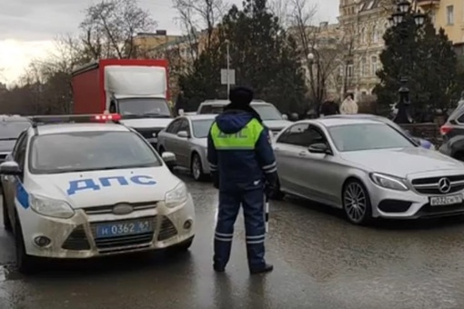
[[[267,273],[273,266],[264,258],[265,190],[277,184],[276,160],[268,129],[250,106],[253,91],[236,87],[229,99],[230,104],[216,117],[207,138],[207,158],[219,189],[214,269],[225,271],[242,204],[250,273]]]

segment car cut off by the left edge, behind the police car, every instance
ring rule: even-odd
[[[18,136],[31,126],[26,117],[18,115],[0,115],[0,163],[5,160],[15,146]]]

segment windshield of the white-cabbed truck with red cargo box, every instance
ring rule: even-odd
[[[119,114],[123,116],[146,115],[170,117],[171,111],[162,98],[128,98],[118,100]]]

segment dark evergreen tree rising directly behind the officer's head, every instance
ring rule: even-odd
[[[182,78],[186,96],[227,97],[225,86],[219,85],[220,69],[227,65],[227,40],[237,85],[252,87],[257,99],[276,105],[282,113],[305,109],[306,85],[297,45],[269,13],[267,0],[246,0],[241,10],[232,6],[217,27],[217,42],[199,57],[192,74]]]

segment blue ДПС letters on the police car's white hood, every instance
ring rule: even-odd
[[[126,186],[131,184],[138,184],[138,185],[155,185],[156,181],[153,179],[152,176],[138,174],[134,175],[130,178],[126,178],[126,176],[108,176],[108,177],[98,177],[96,179],[86,178],[86,179],[78,179],[72,180],[69,182],[69,188],[67,189],[66,193],[68,195],[76,194],[77,191],[83,190],[94,190],[99,191],[102,187],[113,186],[115,184]]]

